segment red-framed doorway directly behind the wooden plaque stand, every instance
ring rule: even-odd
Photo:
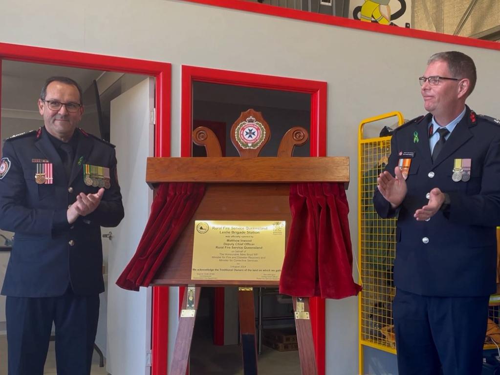
[[[204,156],[203,149],[192,145],[191,132],[197,126],[206,126],[215,133],[222,156],[237,156],[229,130],[240,113],[250,108],[261,112],[271,132],[270,141],[259,156],[276,156],[282,135],[293,126],[304,127],[309,133],[309,141],[296,147],[293,156],[325,154],[325,82],[182,66],[181,105],[182,156]],[[181,291],[179,296],[182,295]],[[239,374],[236,296],[237,291],[231,287],[203,288],[191,347],[192,374],[208,370],[213,374]],[[293,342],[291,300],[278,295],[276,289],[254,289],[254,299],[257,337],[261,334],[261,340],[257,339],[257,350],[262,353],[257,359],[259,368],[264,373],[299,374],[298,353],[293,352],[293,345],[277,343]],[[324,302],[313,300],[316,300],[312,305],[316,361],[318,374],[324,374]],[[272,338],[272,332],[279,337]],[[285,347],[291,350],[279,352]],[[214,360],[217,358],[218,362]]]

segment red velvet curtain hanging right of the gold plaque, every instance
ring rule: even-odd
[[[291,227],[279,293],[340,299],[361,287],[352,280],[352,248],[343,184],[290,185]]]

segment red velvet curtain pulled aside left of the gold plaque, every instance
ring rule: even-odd
[[[205,191],[204,184],[161,184],[151,205],[151,214],[137,250],[116,284],[138,291],[149,286],[183,229],[191,220]]]

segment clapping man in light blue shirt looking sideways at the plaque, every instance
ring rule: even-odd
[[[398,373],[479,375],[496,289],[500,121],[465,105],[469,56],[436,53],[418,80],[428,113],[394,131],[373,197],[381,217],[397,216]]]

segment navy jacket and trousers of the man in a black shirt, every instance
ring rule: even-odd
[[[0,228],[15,232],[1,291],[7,296],[9,375],[43,374],[52,322],[57,374],[90,373],[104,291],[100,227],[118,225],[123,206],[113,146],[80,129],[75,133],[69,183],[44,128],[3,145]],[[35,180],[42,162],[52,166],[52,184]],[[94,212],[69,225],[66,211],[76,196],[99,189],[84,183],[85,164],[108,168],[110,186]]]

